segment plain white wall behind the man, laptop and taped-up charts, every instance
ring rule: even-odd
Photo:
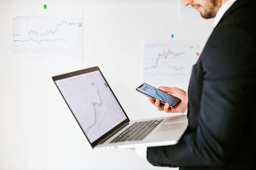
[[[0,0],[0,169],[163,169],[133,150],[94,152],[51,76],[99,66],[131,119],[167,115],[135,92],[142,83],[143,39],[174,34],[204,44],[213,28],[212,20],[179,20],[177,3]],[[11,11],[43,10],[44,4],[84,13],[84,62],[13,59]]]

